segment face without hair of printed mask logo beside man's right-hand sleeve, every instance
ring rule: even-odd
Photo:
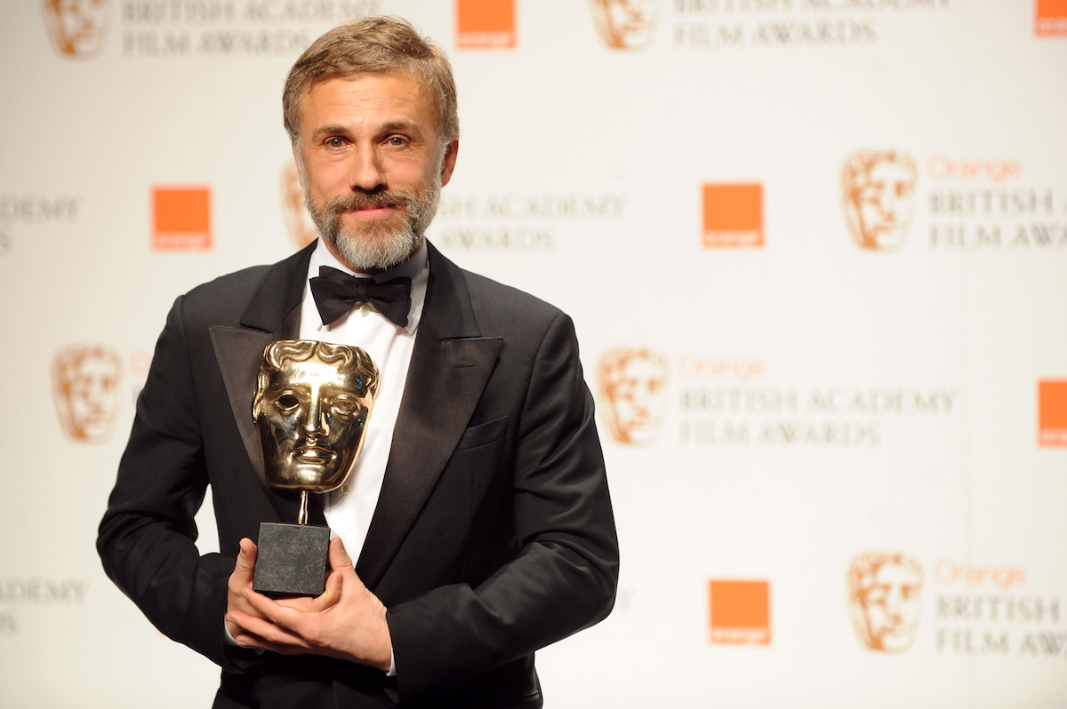
[[[608,405],[616,438],[628,444],[650,444],[658,433],[665,372],[653,359],[635,357],[614,372]]]

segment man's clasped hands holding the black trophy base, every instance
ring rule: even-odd
[[[235,576],[241,569],[241,559],[249,555],[244,542]],[[251,555],[254,564],[255,545]],[[330,566],[333,570],[327,590],[318,598],[271,600],[252,590],[250,575],[249,583],[240,587],[243,603],[232,602],[226,612],[227,627],[238,628],[234,633],[237,644],[282,655],[324,655],[388,671],[393,643],[385,607],[355,575],[339,538],[330,543]],[[230,593],[233,587],[230,577]]]

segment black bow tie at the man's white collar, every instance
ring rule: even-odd
[[[411,278],[401,276],[376,284],[372,278],[356,278],[329,265],[320,265],[319,275],[309,283],[324,325],[340,318],[356,303],[370,303],[396,324],[408,326]]]

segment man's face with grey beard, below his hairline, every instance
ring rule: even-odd
[[[407,260],[433,219],[458,147],[441,145],[433,106],[405,71],[313,84],[293,155],[307,209],[334,256],[363,272]]]

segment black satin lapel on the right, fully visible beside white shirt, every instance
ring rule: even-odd
[[[466,430],[503,340],[477,337],[462,272],[430,247],[430,284],[385,479],[355,570],[381,580]]]

